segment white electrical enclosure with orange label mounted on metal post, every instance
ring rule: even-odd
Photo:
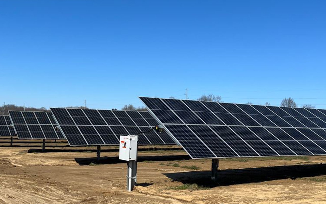
[[[120,136],[119,159],[137,160],[137,135]]]

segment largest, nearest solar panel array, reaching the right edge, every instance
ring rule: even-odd
[[[140,99],[193,159],[326,154],[326,110]]]

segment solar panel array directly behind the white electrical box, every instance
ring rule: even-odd
[[[71,146],[118,145],[120,135],[150,130],[158,122],[143,111],[50,108]],[[138,134],[138,144],[175,144],[167,133]]]

